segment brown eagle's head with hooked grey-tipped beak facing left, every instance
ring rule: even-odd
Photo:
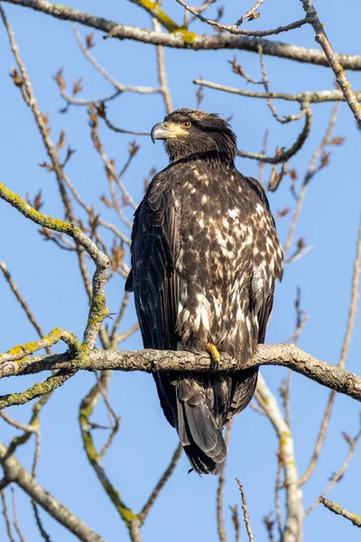
[[[233,164],[236,135],[226,120],[198,109],[176,109],[152,128],[152,140],[163,139],[172,160],[197,154]]]

